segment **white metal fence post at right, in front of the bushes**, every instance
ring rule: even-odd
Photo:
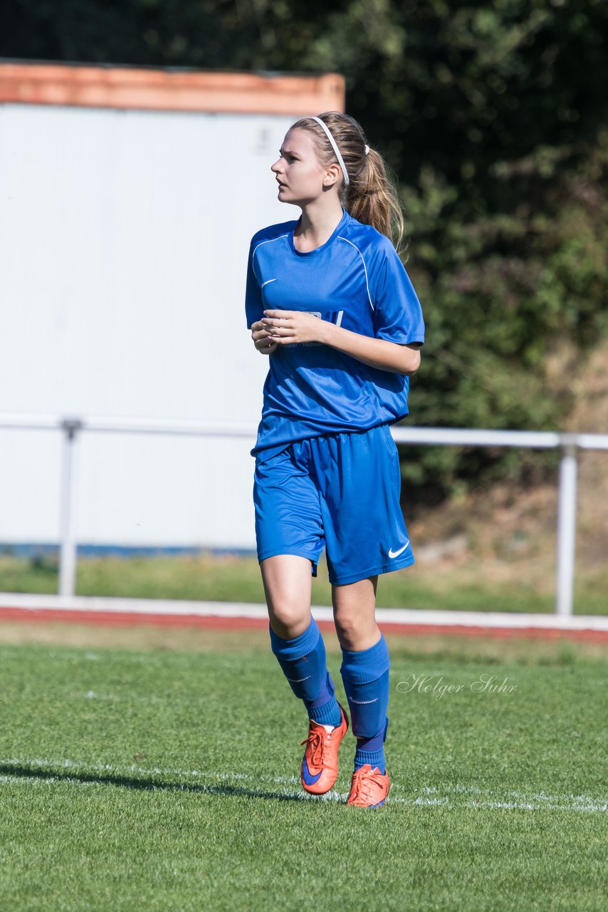
[[[557,591],[555,594],[555,611],[560,617],[572,617],[574,601],[577,470],[576,437],[573,434],[562,434],[557,515]]]

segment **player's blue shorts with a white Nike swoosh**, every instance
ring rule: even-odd
[[[325,547],[335,586],[407,567],[414,555],[400,491],[397,445],[387,424],[297,440],[256,459],[258,561],[298,554],[316,576]]]

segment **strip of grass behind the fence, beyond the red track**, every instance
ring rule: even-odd
[[[546,563],[546,562],[545,562]],[[425,565],[383,575],[377,604],[382,607],[443,608],[469,611],[553,612],[554,568],[540,562],[524,569],[506,559],[487,563]],[[57,592],[57,561],[0,554],[0,592]],[[186,598],[264,604],[255,557],[200,554],[180,557],[80,558],[77,595]],[[313,580],[314,605],[331,605],[325,557]],[[605,614],[608,566],[577,575],[575,613]]]

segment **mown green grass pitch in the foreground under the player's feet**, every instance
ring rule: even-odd
[[[387,639],[393,785],[366,812],[350,734],[304,795],[265,631],[0,626],[0,908],[605,908],[605,657]]]

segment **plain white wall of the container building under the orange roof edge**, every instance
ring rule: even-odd
[[[0,106],[0,411],[256,423],[246,257],[297,215],[270,171],[292,120]],[[58,439],[34,495],[35,435],[0,435],[0,541],[57,540]],[[84,434],[78,540],[252,547],[251,446]]]

